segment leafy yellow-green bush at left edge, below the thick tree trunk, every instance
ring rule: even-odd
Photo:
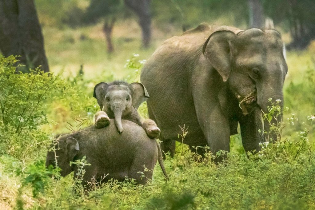
[[[39,127],[48,122],[44,101],[66,87],[60,75],[39,69],[16,74],[16,61],[0,56],[0,154],[21,157],[26,148],[39,146],[37,139],[47,138]]]

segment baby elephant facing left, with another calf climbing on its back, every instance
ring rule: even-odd
[[[153,169],[159,162],[163,174],[167,177],[163,165],[161,150],[155,139],[150,139],[142,127],[127,120],[122,120],[124,132],[118,133],[112,119],[109,126],[97,129],[91,126],[80,131],[59,136],[48,151],[46,167],[57,165],[61,168],[61,176],[66,176],[74,171],[77,177],[78,168],[70,165],[70,161],[82,159],[91,164],[85,166],[82,184],[90,189],[89,182],[106,182],[109,179],[119,181],[125,177],[135,179],[138,184],[146,184],[152,180]],[[145,167],[148,170],[145,170]],[[141,177],[138,172],[143,172]],[[108,175],[107,175],[108,174]],[[79,177],[80,178],[80,177]]]

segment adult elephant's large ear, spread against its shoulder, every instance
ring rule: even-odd
[[[203,45],[202,51],[204,56],[219,72],[224,82],[226,82],[231,73],[231,42],[235,39],[236,35],[232,31],[215,31]]]

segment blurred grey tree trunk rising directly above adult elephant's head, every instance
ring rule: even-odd
[[[264,14],[261,0],[248,0],[249,5],[249,26],[264,28]]]

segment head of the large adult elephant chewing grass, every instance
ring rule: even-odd
[[[267,113],[270,98],[273,102],[280,99],[283,108],[283,84],[288,71],[283,48],[277,31],[252,28],[237,34],[214,32],[205,42],[203,54],[228,82],[246,115],[255,110]],[[264,129],[269,130],[269,123],[264,123]],[[274,134],[272,138],[276,140]]]

